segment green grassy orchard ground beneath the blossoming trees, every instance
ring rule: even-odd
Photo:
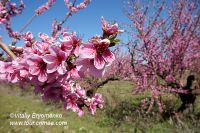
[[[28,87],[27,87],[28,88]],[[200,132],[200,99],[196,101],[195,113],[174,118],[164,118],[153,112],[146,114],[139,108],[140,101],[149,94],[132,95],[133,85],[128,81],[113,81],[99,88],[105,105],[94,116],[78,117],[72,111],[64,110],[60,104],[43,102],[32,89],[21,90],[12,85],[0,86],[0,133],[198,133]],[[167,107],[180,105],[176,97],[164,98]],[[45,121],[66,121],[66,126],[10,126],[10,121],[25,119],[10,118],[10,113],[53,113],[62,114],[62,118],[45,119]],[[34,119],[35,120],[35,119]],[[41,121],[41,119],[39,120]]]

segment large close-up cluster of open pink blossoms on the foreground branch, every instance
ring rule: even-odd
[[[0,80],[27,82],[44,100],[62,101],[66,109],[79,116],[83,115],[84,106],[92,114],[102,108],[102,96],[87,96],[77,81],[87,74],[103,75],[105,67],[115,60],[109,50],[112,40],[98,36],[83,43],[75,33],[68,32],[58,40],[43,33],[38,36],[40,41],[35,41],[31,32],[22,34],[22,52],[13,61],[0,62]]]

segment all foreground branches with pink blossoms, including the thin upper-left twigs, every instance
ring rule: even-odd
[[[31,32],[23,32],[33,19],[49,9],[56,0],[47,3],[35,11],[35,16],[20,31],[13,31],[12,17],[20,14],[25,4],[3,0],[0,2],[0,24],[4,25],[10,38],[23,40],[23,47],[7,46],[0,39],[1,48],[9,55],[0,61],[0,80],[10,83],[28,83],[34,86],[35,92],[41,93],[44,100],[62,101],[66,109],[84,114],[83,107],[94,114],[97,108],[102,108],[101,94],[87,95],[84,88],[77,83],[78,79],[89,74],[102,77],[105,68],[115,60],[115,55],[110,47],[119,41],[117,34],[121,32],[118,24],[110,24],[102,17],[102,36],[94,36],[87,42],[62,25],[73,13],[86,8],[90,0],[84,0],[76,5],[76,0],[71,3],[64,0],[69,12],[61,21],[53,21],[51,36],[39,33],[40,40],[36,40]]]

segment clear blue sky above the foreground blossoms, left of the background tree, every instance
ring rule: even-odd
[[[13,29],[20,30],[31,18],[31,16],[34,15],[35,9],[44,4],[46,1],[47,0],[24,0],[26,8],[21,15],[13,17]],[[80,1],[82,0],[77,0],[77,3]],[[13,0],[13,2],[19,2],[19,0]],[[128,21],[123,13],[123,2],[124,0],[92,0],[86,9],[73,14],[64,26],[69,26],[70,30],[83,36],[83,40],[86,41],[93,35],[102,33],[100,21],[101,16],[104,16],[106,20],[116,21],[119,24],[126,23]],[[50,10],[38,16],[25,31],[32,31],[35,36],[37,36],[39,32],[50,35],[52,20],[54,18],[58,21],[62,20],[67,12],[68,9],[64,0],[57,0],[56,4],[53,5]],[[3,37],[3,41],[5,43],[9,44],[11,42],[11,39],[9,39],[2,26],[0,27],[0,35]],[[124,38],[123,35],[120,38]]]

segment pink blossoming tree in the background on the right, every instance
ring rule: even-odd
[[[196,62],[200,59],[200,3],[187,0],[144,3],[129,0],[126,5],[131,21],[128,49],[136,91],[150,91],[148,111],[157,103],[162,112],[163,95],[189,93],[182,80],[187,78],[186,73],[191,74],[192,66],[199,64]]]

